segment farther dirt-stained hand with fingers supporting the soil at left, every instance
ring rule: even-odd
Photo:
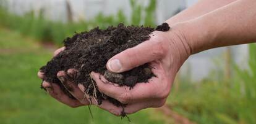
[[[58,55],[59,52],[64,50],[65,48],[59,48],[54,52],[54,56]],[[96,105],[100,107],[101,109],[108,110],[108,112],[111,112],[114,115],[119,115],[119,111],[121,108],[114,106],[113,104],[109,103],[108,101],[103,101],[101,105],[98,105],[95,101],[95,99],[92,99],[92,103],[89,102],[88,99],[90,99],[90,96],[86,95],[84,93],[85,89],[82,87],[82,84],[75,85],[75,83],[72,81],[72,79],[67,78],[67,75],[69,77],[74,77],[77,71],[75,69],[69,69],[67,72],[59,71],[57,76],[59,80],[61,80],[64,87],[69,91],[69,93],[74,96],[75,99],[70,98],[69,96],[64,93],[64,91],[61,90],[59,85],[56,83],[50,83],[43,81],[42,86],[46,89],[47,93],[53,97],[54,99],[57,99],[59,102],[66,104],[70,107],[80,107],[80,106],[87,106],[89,104]],[[40,79],[44,78],[43,72],[38,72],[38,77]]]

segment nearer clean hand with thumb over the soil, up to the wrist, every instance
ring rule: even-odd
[[[148,83],[137,83],[134,88],[129,89],[108,82],[96,72],[92,72],[91,76],[102,93],[127,104],[124,112],[132,114],[147,107],[163,106],[177,71],[190,53],[186,37],[181,31],[176,29],[168,32],[155,31],[149,41],[113,56],[106,65],[111,72],[124,72],[150,63],[156,77],[149,79]],[[115,111],[119,113],[118,115],[122,114],[122,109]]]

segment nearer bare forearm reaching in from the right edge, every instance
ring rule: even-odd
[[[256,2],[238,0],[174,28],[181,29],[192,53],[256,41]]]

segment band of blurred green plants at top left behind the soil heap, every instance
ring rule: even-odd
[[[25,15],[18,16],[7,12],[7,9],[0,3],[0,26],[5,26],[9,29],[14,29],[22,34],[32,36],[41,42],[54,42],[55,44],[62,44],[66,37],[72,36],[75,32],[88,31],[89,29],[99,27],[105,29],[108,26],[116,26],[119,23],[132,25],[147,25],[155,26],[155,9],[156,1],[150,0],[147,7],[143,7],[137,1],[130,0],[132,8],[131,20],[128,21],[122,10],[117,12],[117,15],[103,15],[101,12],[96,15],[93,20],[79,21],[76,23],[62,23],[59,21],[49,21],[44,17],[43,10],[36,17],[33,12],[28,12]],[[145,12],[144,12],[145,11]],[[145,18],[143,20],[143,13]]]

